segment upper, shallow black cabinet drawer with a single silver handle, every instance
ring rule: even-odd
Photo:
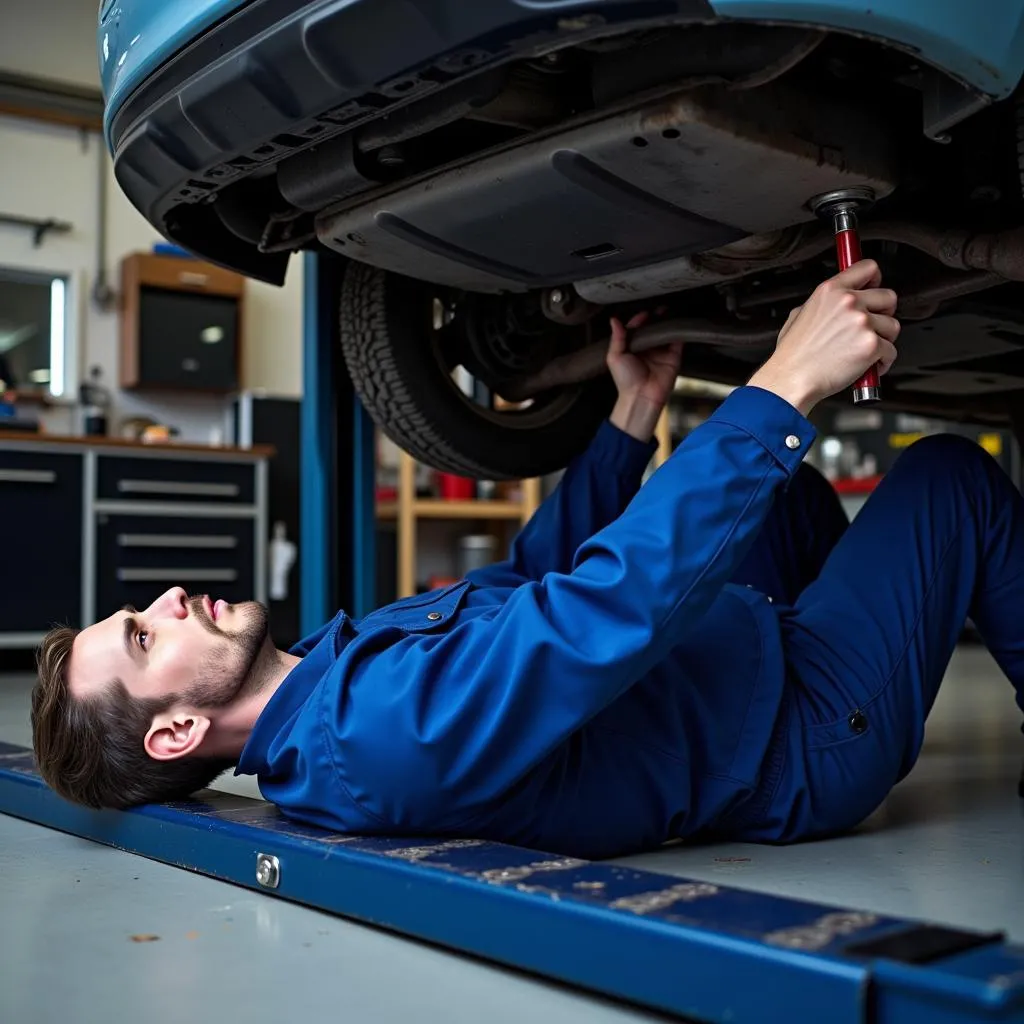
[[[252,505],[256,470],[249,463],[100,456],[96,496],[118,502]]]

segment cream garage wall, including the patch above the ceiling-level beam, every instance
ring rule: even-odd
[[[16,19],[13,8],[16,6]],[[98,89],[96,60],[97,0],[33,0],[3,8],[0,71]],[[9,9],[8,9],[9,8]],[[118,322],[116,312],[101,312],[89,301],[95,280],[97,139],[83,147],[77,130],[0,117],[0,212],[31,217],[57,217],[75,225],[72,234],[49,236],[34,249],[24,229],[0,225],[0,264],[73,271],[78,290],[81,365],[98,365],[103,381],[117,381]],[[135,212],[108,174],[108,274],[116,284],[121,259],[161,241]],[[284,288],[247,283],[243,383],[272,394],[302,393],[302,261],[295,257]],[[120,415],[143,413],[166,419],[207,439],[219,423],[223,401],[168,398],[161,401],[117,396]],[[47,416],[51,429],[69,429],[72,413]]]

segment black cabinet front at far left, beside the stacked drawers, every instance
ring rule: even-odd
[[[81,625],[81,457],[0,451],[0,632]]]

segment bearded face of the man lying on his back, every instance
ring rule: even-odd
[[[83,630],[69,685],[86,697],[117,678],[136,698],[180,695],[197,710],[223,708],[245,692],[267,640],[261,604],[188,597],[176,587],[141,611],[123,608]]]

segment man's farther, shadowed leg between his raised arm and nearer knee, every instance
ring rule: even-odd
[[[831,484],[806,463],[776,500],[732,582],[797,603],[849,525]]]

